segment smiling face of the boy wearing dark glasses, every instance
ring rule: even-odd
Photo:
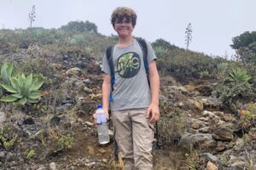
[[[113,29],[117,31],[119,37],[129,37],[133,31],[133,26],[131,19],[127,18],[118,18],[114,22]]]

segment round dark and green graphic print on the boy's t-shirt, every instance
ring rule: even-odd
[[[137,75],[141,59],[137,53],[129,52],[119,56],[117,69],[120,77],[131,78]]]

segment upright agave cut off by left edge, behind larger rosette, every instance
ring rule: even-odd
[[[3,63],[1,67],[0,82],[3,82],[4,84],[10,84],[9,78],[16,76],[18,73],[19,71],[14,63]]]

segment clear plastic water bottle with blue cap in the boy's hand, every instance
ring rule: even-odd
[[[97,105],[96,110],[96,124],[98,130],[98,139],[100,144],[109,143],[109,133],[108,133],[108,122],[105,116],[102,105]]]

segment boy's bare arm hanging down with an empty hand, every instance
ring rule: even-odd
[[[152,100],[148,106],[147,117],[150,118],[150,122],[157,122],[160,117],[159,111],[159,89],[160,89],[160,77],[157,71],[155,60],[151,61],[148,65],[148,77],[150,82],[150,89]]]

